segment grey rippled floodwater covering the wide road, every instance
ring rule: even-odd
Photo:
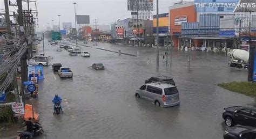
[[[223,138],[223,108],[255,101],[216,85],[247,79],[246,70],[228,68],[224,55],[174,50],[172,67],[166,67],[161,49],[156,68],[155,48],[109,43],[92,46],[89,42],[88,46],[134,55],[139,51],[139,57],[118,56],[81,46],[91,54],[89,58],[69,56],[64,49],[56,52],[57,46],[45,44],[45,55],[72,68],[73,78],[59,78],[51,66],[44,67],[39,97],[31,101],[45,130],[40,138]],[[188,55],[192,55],[190,69]],[[93,70],[90,66],[96,62],[102,62],[105,70]],[[134,97],[134,91],[154,75],[174,78],[180,92],[179,106],[162,108]],[[51,100],[56,93],[63,98],[64,113],[60,115],[52,114]]]

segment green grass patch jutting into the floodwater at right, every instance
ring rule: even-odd
[[[231,83],[221,83],[218,86],[224,89],[245,94],[247,96],[256,97],[256,83],[251,82],[231,82]]]

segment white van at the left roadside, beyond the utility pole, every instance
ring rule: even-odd
[[[52,59],[51,56],[37,55],[28,61],[28,65],[51,65]]]

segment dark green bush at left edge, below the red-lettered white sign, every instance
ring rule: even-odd
[[[16,123],[17,118],[14,117],[14,111],[10,106],[4,106],[0,108],[0,123]]]

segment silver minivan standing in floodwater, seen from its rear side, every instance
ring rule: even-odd
[[[179,91],[177,86],[164,83],[149,83],[142,85],[135,91],[135,96],[152,101],[161,107],[179,105]]]

